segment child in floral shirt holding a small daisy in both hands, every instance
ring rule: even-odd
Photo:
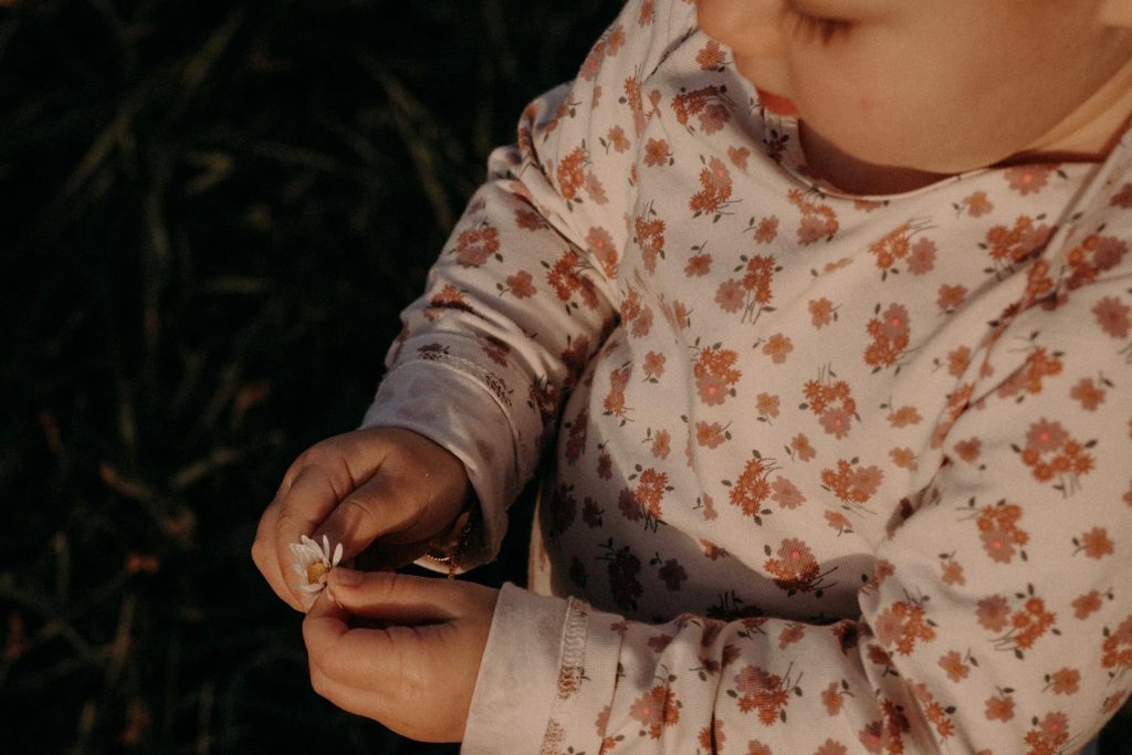
[[[336,568],[316,689],[474,753],[1084,747],[1132,683],[1130,113],[1132,0],[631,0],[255,549],[297,607],[303,534],[470,568],[547,448],[531,592]]]

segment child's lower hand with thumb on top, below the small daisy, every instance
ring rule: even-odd
[[[329,593],[302,623],[315,690],[412,739],[463,739],[499,591],[336,568]]]

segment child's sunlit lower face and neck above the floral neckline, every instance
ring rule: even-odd
[[[843,186],[867,175],[861,163],[911,169],[916,182],[1104,154],[1132,112],[1130,7],[700,0],[698,16],[769,109],[801,118],[811,166]]]

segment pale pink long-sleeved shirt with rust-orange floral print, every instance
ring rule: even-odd
[[[465,750],[1082,747],[1132,686],[1129,144],[846,196],[689,0],[631,0],[366,419],[464,461],[480,560],[541,475]]]

